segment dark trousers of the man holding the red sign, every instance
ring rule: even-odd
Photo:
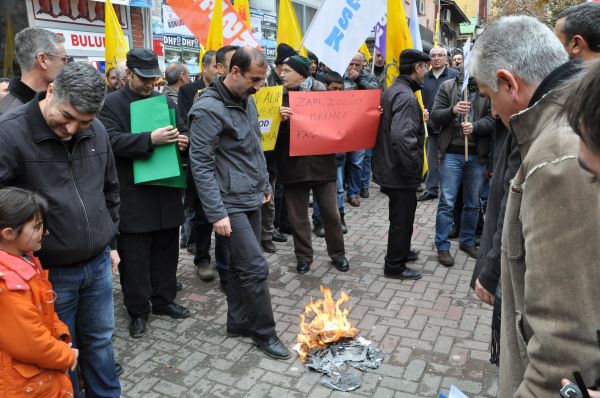
[[[319,202],[321,222],[325,228],[327,254],[333,260],[344,257],[344,235],[337,207],[337,185],[335,181],[315,184],[289,184],[284,186],[288,219],[294,234],[294,252],[298,261],[312,261],[312,236],[308,217],[309,194]]]

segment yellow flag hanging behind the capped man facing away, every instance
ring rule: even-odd
[[[414,1],[414,0],[413,0]],[[387,27],[385,41],[386,86],[390,87],[400,74],[400,53],[408,48],[414,48],[412,36],[408,28],[408,19],[404,12],[403,0],[388,0]],[[417,101],[424,108],[421,91],[415,93]],[[427,128],[427,127],[425,127]],[[427,141],[427,138],[425,139]],[[424,144],[425,145],[425,144]],[[423,175],[427,172],[427,151],[423,148]]]

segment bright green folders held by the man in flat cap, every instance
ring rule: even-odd
[[[164,95],[132,102],[130,109],[131,132],[134,134],[177,125],[175,110],[169,109]],[[134,160],[133,182],[185,188],[185,173],[181,167],[177,143],[159,145],[148,159]]]

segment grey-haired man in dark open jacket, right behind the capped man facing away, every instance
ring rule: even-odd
[[[443,82],[454,79],[458,75],[455,69],[448,68],[448,51],[444,47],[436,46],[429,50],[431,57],[431,69],[425,75],[423,82],[423,105],[431,112],[435,96]],[[438,136],[440,127],[436,126],[431,118],[427,121],[427,177],[425,178],[425,192],[417,198],[417,201],[435,199],[439,195],[440,175],[438,172]]]

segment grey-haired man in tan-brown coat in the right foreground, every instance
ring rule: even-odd
[[[513,16],[488,26],[469,62],[522,159],[505,177],[504,224],[495,232],[502,235],[500,397],[556,395],[561,377],[575,370],[586,380],[600,376],[600,312],[591,299],[600,246],[589,244],[600,234],[600,197],[578,165],[577,135],[556,117],[565,101],[556,87],[578,69],[567,59],[545,25]]]

